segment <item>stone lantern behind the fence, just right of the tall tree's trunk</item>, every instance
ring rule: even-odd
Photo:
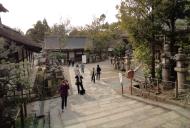
[[[168,44],[164,45],[164,53],[161,56],[162,56],[162,80],[169,81],[170,80],[169,67],[170,67],[171,53]]]

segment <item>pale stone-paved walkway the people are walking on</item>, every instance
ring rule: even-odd
[[[98,64],[102,76],[95,84],[91,82],[90,70],[97,63],[85,67],[85,95],[77,94],[74,68],[64,67],[68,68],[66,75],[71,85],[68,106],[62,112],[60,97],[45,101],[45,115],[50,112],[51,128],[190,128],[189,111],[169,105],[159,107],[120,95],[115,91],[120,89],[117,71],[108,61]],[[124,79],[124,86],[127,83]],[[37,103],[33,105],[37,110]]]

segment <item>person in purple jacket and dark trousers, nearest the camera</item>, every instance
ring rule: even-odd
[[[67,80],[62,80],[62,83],[60,84],[59,92],[61,95],[61,109],[62,112],[64,111],[64,107],[67,107],[67,97],[68,97],[68,90],[69,90],[69,83]]]

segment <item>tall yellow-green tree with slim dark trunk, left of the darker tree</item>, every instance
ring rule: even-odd
[[[117,6],[121,28],[127,30],[134,47],[147,43],[151,49],[151,75],[155,77],[155,35],[159,34],[160,24],[154,12],[158,0],[124,0]],[[144,51],[142,51],[144,52]]]

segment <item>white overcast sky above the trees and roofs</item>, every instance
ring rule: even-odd
[[[46,18],[49,26],[70,20],[71,26],[90,24],[94,17],[106,15],[106,21],[116,22],[116,5],[121,0],[0,0],[9,10],[0,13],[1,21],[11,28],[26,32],[38,20]]]

